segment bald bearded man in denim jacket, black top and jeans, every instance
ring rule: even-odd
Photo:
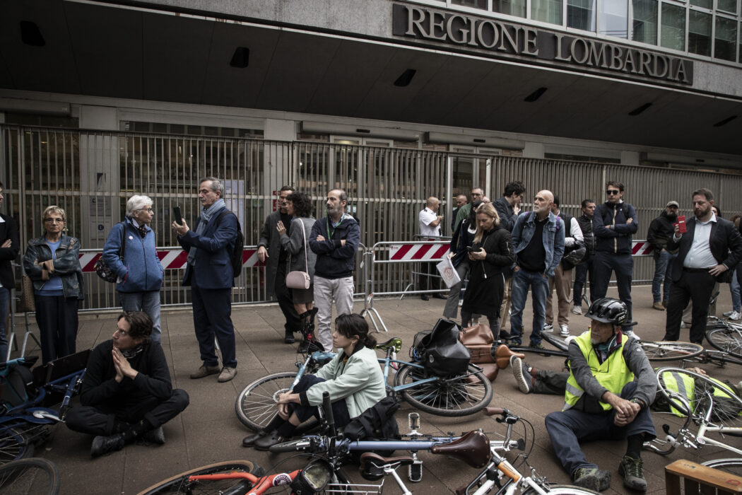
[[[530,286],[533,298],[533,330],[531,343],[528,345],[537,349],[543,348],[541,330],[546,318],[549,277],[554,276],[554,269],[564,254],[564,223],[551,213],[553,203],[554,194],[551,191],[539,191],[533,198],[533,212],[520,214],[512,233],[516,261],[513,266],[510,338],[513,344],[521,344],[523,308]]]

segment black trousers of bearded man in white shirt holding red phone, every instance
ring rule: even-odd
[[[680,260],[677,260],[680,263]],[[670,299],[667,303],[667,320],[665,324],[665,341],[677,341],[680,338],[680,320],[688,301],[693,301],[690,341],[703,343],[706,335],[706,318],[709,315],[709,298],[714,290],[716,279],[709,272],[686,272],[679,281],[672,281]]]

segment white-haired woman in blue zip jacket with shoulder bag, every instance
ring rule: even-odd
[[[116,223],[103,246],[103,260],[118,277],[124,311],[143,311],[152,320],[151,339],[160,341],[160,287],[162,264],[157,258],[154,230],[149,224],[154,214],[148,196],[132,196],[126,202],[126,218]],[[125,243],[122,257],[122,241]]]

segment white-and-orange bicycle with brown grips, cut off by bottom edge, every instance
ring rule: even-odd
[[[510,413],[507,409],[499,407],[485,407],[485,414],[487,416],[500,417],[497,419],[498,422],[508,424],[508,431],[512,429],[512,425],[517,422],[523,422],[529,424],[525,419],[519,418],[518,416]],[[531,430],[533,427],[531,426]],[[531,448],[533,448],[533,442],[531,442]],[[494,446],[490,449],[491,460],[489,465],[474,477],[469,485],[464,486],[456,490],[457,495],[485,495],[491,491],[498,495],[513,495],[516,493],[522,494],[551,494],[551,495],[580,495],[580,494],[597,494],[595,491],[587,490],[571,485],[550,485],[543,476],[536,474],[536,469],[528,464],[528,453],[519,454],[522,458],[523,463],[528,465],[531,470],[531,476],[523,476],[519,471],[508,462]]]

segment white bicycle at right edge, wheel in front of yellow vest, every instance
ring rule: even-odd
[[[646,442],[644,448],[666,456],[678,446],[694,450],[706,446],[720,447],[735,457],[712,459],[703,465],[742,476],[742,449],[707,436],[709,432],[719,433],[722,437],[742,436],[742,399],[708,376],[683,368],[660,368],[657,370],[657,384],[670,408],[667,414],[678,418],[684,416],[685,421],[675,434],[670,432],[669,424],[663,424],[666,438]],[[690,430],[691,423],[698,426],[695,434]]]

